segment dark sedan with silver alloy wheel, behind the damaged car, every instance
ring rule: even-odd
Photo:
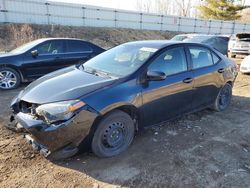
[[[46,38],[0,55],[0,89],[17,88],[47,73],[83,63],[104,49],[79,39]]]

